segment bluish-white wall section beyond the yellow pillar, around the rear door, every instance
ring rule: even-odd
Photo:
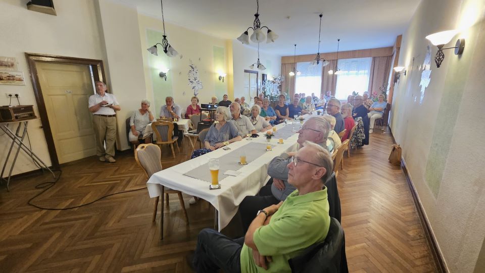
[[[261,43],[264,47],[264,43]],[[233,73],[234,73],[234,97],[246,96],[244,85],[246,79],[244,77],[244,70],[251,70],[249,67],[258,60],[258,51],[254,48],[248,47],[240,41],[232,40],[232,55],[233,55]],[[259,72],[259,82],[261,82],[261,74],[268,76],[278,76],[281,74],[281,56],[265,52],[260,48],[260,62],[266,67],[266,70]],[[256,68],[254,70],[257,70]],[[247,96],[246,96],[247,97]],[[246,98],[249,102],[249,98]]]

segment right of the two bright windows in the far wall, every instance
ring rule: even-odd
[[[369,88],[369,73],[372,57],[338,60],[338,69],[343,71],[337,75],[335,98],[347,100],[352,92],[362,95]]]

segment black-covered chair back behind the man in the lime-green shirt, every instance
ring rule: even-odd
[[[330,218],[325,241],[313,244],[302,255],[288,260],[292,272],[340,272],[344,240],[344,229],[335,218]]]

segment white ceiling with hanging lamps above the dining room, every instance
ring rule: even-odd
[[[113,0],[139,13],[162,18],[160,0]],[[320,52],[390,47],[403,34],[421,0],[261,0],[259,18],[279,35],[261,43],[264,52],[280,56],[316,54],[318,15],[323,13]],[[164,0],[166,22],[235,39],[253,25],[256,0]],[[252,30],[250,30],[250,35]],[[170,36],[168,37],[170,40]],[[174,45],[176,48],[176,45]],[[251,47],[257,44],[251,42]]]

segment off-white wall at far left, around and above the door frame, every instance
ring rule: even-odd
[[[0,56],[15,57],[19,70],[24,72],[26,85],[0,85],[0,105],[9,105],[5,93],[20,94],[23,105],[37,106],[30,81],[25,53],[51,54],[103,60],[100,33],[91,1],[56,1],[57,16],[27,10],[25,1],[0,2]],[[12,101],[16,105],[16,101]],[[29,122],[32,150],[47,165],[51,164],[40,119]],[[12,126],[11,126],[12,128]],[[8,138],[0,136],[0,162],[7,155]],[[30,157],[21,152],[13,174],[36,169]]]

